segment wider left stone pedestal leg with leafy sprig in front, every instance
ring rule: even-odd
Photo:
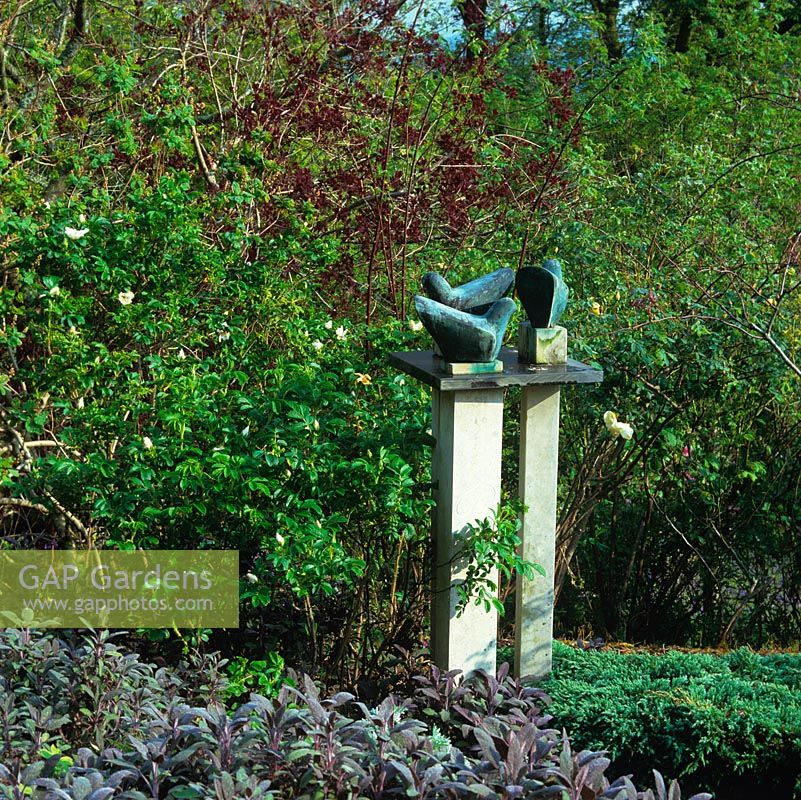
[[[503,390],[434,389],[432,417],[436,511],[431,655],[441,669],[494,674],[497,613],[470,604],[456,616],[454,581],[464,577],[467,564],[458,557],[454,535],[468,523],[486,519],[500,502]],[[492,580],[497,585],[497,572]]]

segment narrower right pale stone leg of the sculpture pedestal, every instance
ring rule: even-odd
[[[520,401],[521,554],[545,568],[545,577],[517,578],[515,672],[543,678],[551,671],[556,474],[559,459],[559,387],[531,386]]]

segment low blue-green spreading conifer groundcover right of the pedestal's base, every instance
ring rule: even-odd
[[[559,642],[543,684],[555,721],[582,747],[607,749],[616,769],[645,776],[656,767],[727,798],[754,786],[791,796],[801,780],[800,687],[798,655],[622,654]]]

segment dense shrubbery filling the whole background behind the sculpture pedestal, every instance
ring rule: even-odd
[[[238,547],[212,644],[378,692],[428,579],[427,398],[385,353],[425,270],[556,255],[606,372],[564,396],[560,624],[797,645],[794,18],[605,5],[483,46],[379,2],[4,9],[7,545]]]

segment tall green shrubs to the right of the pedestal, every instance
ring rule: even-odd
[[[605,381],[565,397],[567,630],[798,639],[801,117],[781,98],[801,51],[758,5],[709,4],[687,54],[638,24],[613,84],[580,91],[578,199],[547,241],[572,354]],[[633,424],[628,452],[595,436],[606,409]]]

